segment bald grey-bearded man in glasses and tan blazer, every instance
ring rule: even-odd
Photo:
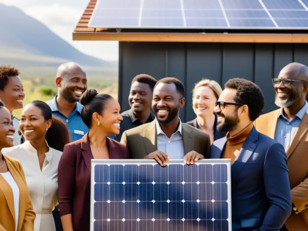
[[[261,115],[257,130],[286,150],[292,196],[292,214],[282,231],[308,230],[308,67],[290,63],[273,79],[275,104],[280,109]]]

